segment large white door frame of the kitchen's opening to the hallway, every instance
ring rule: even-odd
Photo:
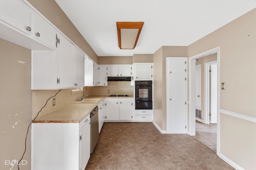
[[[196,135],[196,82],[195,82],[195,77],[196,77],[196,59],[211,55],[217,53],[217,83],[218,83],[218,94],[217,94],[217,150],[216,154],[220,154],[220,46],[215,47],[213,49],[210,49],[208,51],[204,51],[200,54],[194,55],[192,57],[189,57],[189,131],[188,135],[195,136]]]

